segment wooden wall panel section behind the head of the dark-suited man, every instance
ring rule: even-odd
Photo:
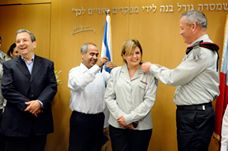
[[[50,4],[0,6],[2,49],[7,51],[15,41],[16,30],[31,30],[37,38],[36,53],[49,58]]]

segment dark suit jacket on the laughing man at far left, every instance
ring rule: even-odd
[[[21,57],[3,63],[2,93],[7,100],[1,129],[6,136],[46,135],[53,132],[52,100],[57,92],[53,62],[34,57],[32,74]],[[43,112],[25,112],[25,102],[40,100]]]

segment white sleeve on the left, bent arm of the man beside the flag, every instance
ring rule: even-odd
[[[89,70],[83,72],[80,69],[73,69],[69,72],[68,87],[72,91],[83,91],[84,88],[95,79],[100,67],[94,65]]]

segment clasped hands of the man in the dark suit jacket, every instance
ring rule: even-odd
[[[24,111],[28,111],[33,115],[35,115],[36,117],[42,111],[42,106],[39,100],[31,100],[31,101],[25,102],[25,104],[27,105],[27,107]]]

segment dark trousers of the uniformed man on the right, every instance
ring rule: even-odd
[[[214,121],[215,113],[211,104],[177,107],[178,151],[208,151]]]

